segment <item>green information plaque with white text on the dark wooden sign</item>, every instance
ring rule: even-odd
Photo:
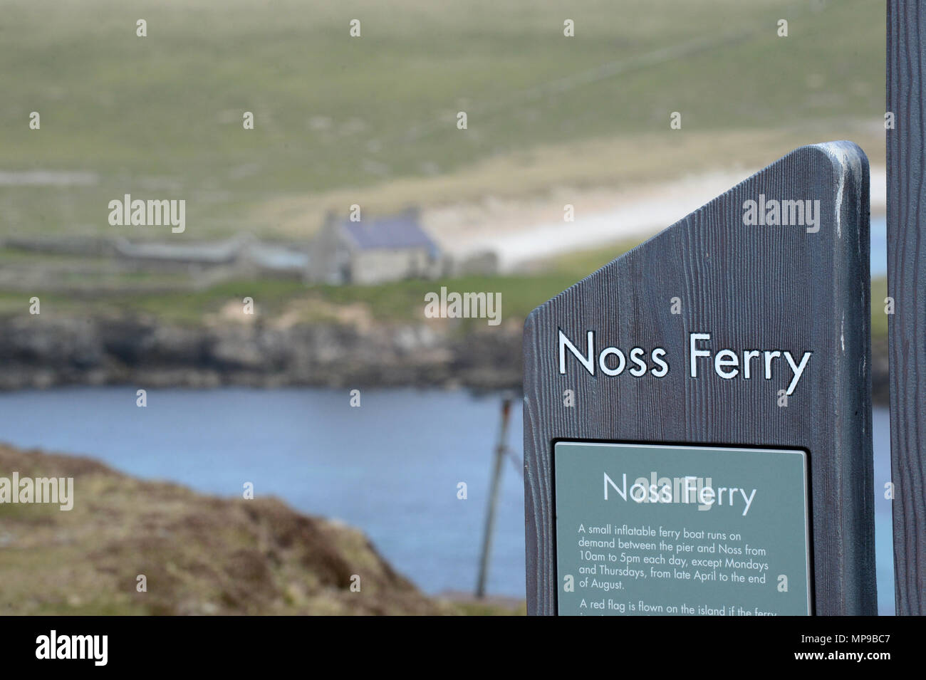
[[[559,441],[557,612],[807,615],[805,451]]]

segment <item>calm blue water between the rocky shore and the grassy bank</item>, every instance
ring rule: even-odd
[[[344,390],[69,388],[0,394],[0,439],[84,453],[131,475],[233,496],[244,482],[299,510],[361,527],[382,554],[431,593],[471,590],[499,398],[389,389],[351,408]],[[888,415],[876,409],[875,488],[890,478]],[[508,441],[521,450],[520,404]],[[457,483],[469,498],[457,500]],[[519,470],[506,464],[490,591],[524,596]],[[78,498],[80,501],[80,498]],[[878,588],[894,612],[890,501],[876,497]]]

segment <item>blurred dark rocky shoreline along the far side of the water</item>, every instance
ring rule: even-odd
[[[886,341],[872,351],[888,397]],[[462,387],[519,390],[521,324],[462,332],[428,324],[166,325],[144,316],[16,317],[0,330],[0,389],[132,385],[192,389]]]

